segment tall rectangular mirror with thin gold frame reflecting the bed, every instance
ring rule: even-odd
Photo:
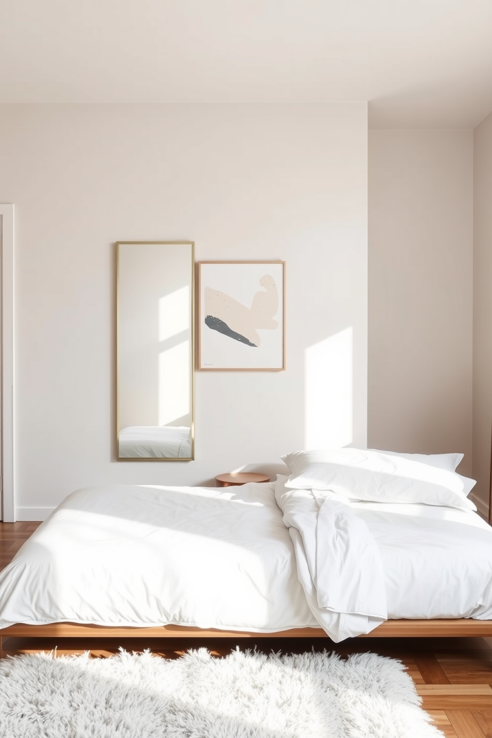
[[[194,458],[193,241],[117,243],[117,458]]]

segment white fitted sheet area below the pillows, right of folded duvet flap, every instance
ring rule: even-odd
[[[355,503],[381,552],[388,618],[492,619],[492,528],[473,511]]]

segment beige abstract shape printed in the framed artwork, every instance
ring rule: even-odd
[[[206,325],[246,345],[259,346],[261,339],[257,328],[274,330],[278,327],[278,321],[274,320],[274,315],[279,305],[274,278],[271,275],[263,275],[260,279],[260,286],[265,289],[254,294],[251,308],[225,292],[205,287]]]

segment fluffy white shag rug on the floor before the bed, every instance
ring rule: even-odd
[[[435,738],[403,664],[207,649],[0,661],[1,738]]]

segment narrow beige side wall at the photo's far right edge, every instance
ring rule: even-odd
[[[492,424],[492,114],[474,129],[473,475],[488,508]]]

